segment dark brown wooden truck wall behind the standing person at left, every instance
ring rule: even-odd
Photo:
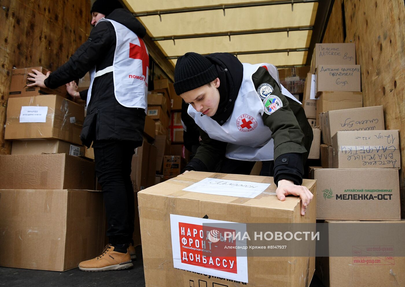
[[[0,0],[0,154],[4,140],[11,69],[66,62],[90,34],[90,0]]]

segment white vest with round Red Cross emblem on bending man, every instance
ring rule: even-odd
[[[232,115],[220,126],[211,117],[202,116],[192,105],[188,107],[188,114],[196,124],[204,130],[210,138],[228,142],[225,156],[230,159],[245,161],[268,161],[274,159],[274,142],[271,138],[271,130],[263,123],[262,115],[264,105],[258,95],[252,75],[261,66],[266,66],[270,75],[281,88],[284,96],[298,102],[294,96],[279,81],[277,68],[271,64],[251,65],[243,63],[243,80],[239,89],[238,97],[234,104]],[[272,115],[269,115],[270,117]]]

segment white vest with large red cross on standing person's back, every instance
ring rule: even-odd
[[[147,48],[142,39],[124,25],[102,18],[100,21],[109,21],[113,24],[117,44],[115,46],[113,65],[102,69],[96,73],[96,67],[90,70],[90,88],[87,92],[87,106],[92,95],[94,78],[113,72],[114,94],[118,103],[124,107],[143,108],[147,111],[147,85],[148,85],[148,63],[143,63],[142,59],[130,58],[130,46],[138,48],[139,57],[147,54]],[[136,45],[136,46],[134,46]],[[146,73],[143,69],[146,68]]]

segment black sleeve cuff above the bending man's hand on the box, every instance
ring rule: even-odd
[[[296,185],[303,182],[304,164],[302,153],[285,153],[274,161],[274,183],[278,186],[279,180],[288,179]]]

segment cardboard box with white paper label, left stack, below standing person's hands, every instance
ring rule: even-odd
[[[84,108],[61,96],[10,98],[4,138],[56,139],[81,145],[83,121]]]

